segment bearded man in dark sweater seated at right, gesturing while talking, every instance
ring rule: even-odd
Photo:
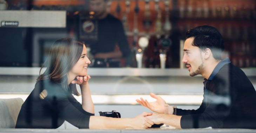
[[[176,128],[256,128],[256,92],[244,72],[221,60],[224,49],[219,31],[211,26],[198,26],[186,33],[184,56],[189,75],[204,77],[204,94],[197,110],[177,109],[176,114],[163,114],[168,105],[159,96],[150,93],[155,102],[136,99],[142,106],[156,112],[149,116],[155,124]]]

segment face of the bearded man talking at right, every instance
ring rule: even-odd
[[[193,41],[194,37],[187,38],[183,47],[182,62],[186,64],[190,76],[202,74],[204,69],[203,52],[200,48],[192,45]]]

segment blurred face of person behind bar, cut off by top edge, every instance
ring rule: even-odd
[[[90,11],[95,12],[95,15],[100,17],[106,13],[107,2],[105,0],[90,0]]]

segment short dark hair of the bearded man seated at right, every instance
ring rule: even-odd
[[[186,33],[186,39],[194,37],[193,46],[201,50],[211,49],[215,59],[221,59],[221,53],[224,49],[224,42],[217,28],[212,26],[198,26],[189,29]]]

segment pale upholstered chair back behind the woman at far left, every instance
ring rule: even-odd
[[[22,104],[21,98],[0,99],[0,128],[15,128]]]

